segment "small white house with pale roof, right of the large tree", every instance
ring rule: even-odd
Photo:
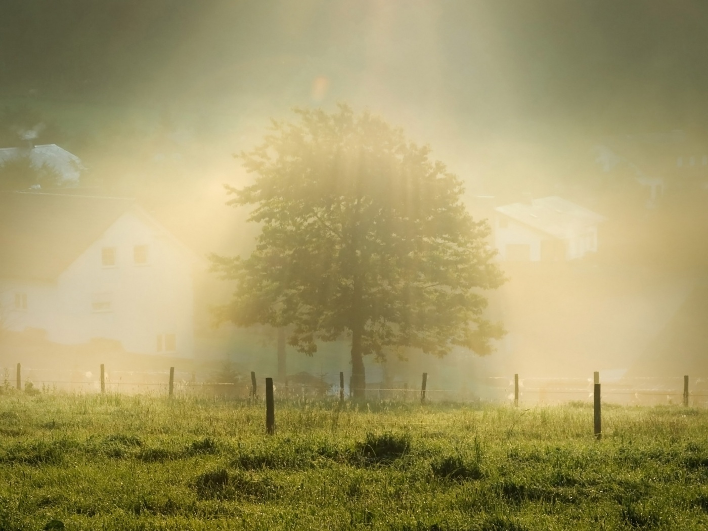
[[[496,207],[494,239],[503,261],[565,261],[598,250],[603,216],[554,195]]]

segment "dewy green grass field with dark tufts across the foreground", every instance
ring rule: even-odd
[[[708,411],[0,394],[0,530],[708,528]]]

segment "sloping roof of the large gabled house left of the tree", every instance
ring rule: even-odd
[[[0,277],[57,278],[135,208],[130,199],[0,192]]]

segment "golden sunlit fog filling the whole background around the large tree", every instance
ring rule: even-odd
[[[441,393],[500,398],[515,373],[705,376],[707,23],[700,0],[5,1],[0,148],[57,144],[82,166],[31,188],[45,205],[0,161],[0,367],[77,389],[101,363],[114,383],[276,375],[275,329],[215,324],[234,285],[207,256],[248,256],[260,231],[223,185],[252,182],[233,155],[271,119],[346,102],[464,181],[508,278],[484,293],[507,331],[495,353],[371,357],[372,386],[428,372]],[[523,217],[544,198],[601,220],[544,232]],[[288,347],[287,375],[338,385],[349,350]]]

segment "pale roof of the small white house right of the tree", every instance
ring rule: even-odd
[[[533,229],[561,239],[586,232],[589,227],[605,219],[592,210],[556,195],[534,199],[530,203],[515,202],[496,207],[494,210]]]

